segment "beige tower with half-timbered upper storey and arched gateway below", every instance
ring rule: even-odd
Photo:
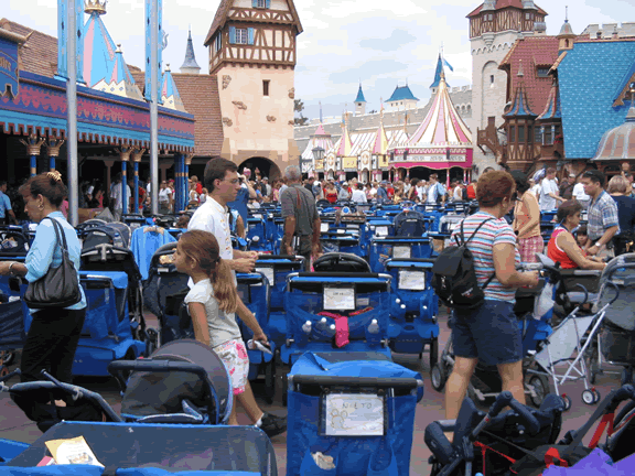
[[[218,80],[222,155],[270,178],[298,164],[293,140],[293,0],[222,0],[207,33],[209,74]]]

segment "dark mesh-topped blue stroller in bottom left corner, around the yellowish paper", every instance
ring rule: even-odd
[[[11,459],[8,466],[35,469],[46,454],[46,442],[77,436],[84,436],[96,459],[111,474],[118,468],[147,467],[171,473],[277,476],[273,446],[267,435],[254,426],[63,422]],[[104,470],[95,467],[96,473],[89,473],[89,466],[82,469],[95,475]]]

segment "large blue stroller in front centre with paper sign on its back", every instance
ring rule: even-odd
[[[421,376],[376,353],[306,353],[289,374],[289,476],[407,476]]]

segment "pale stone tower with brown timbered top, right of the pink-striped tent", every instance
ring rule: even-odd
[[[546,32],[546,15],[532,0],[485,0],[467,15],[473,82],[470,127],[478,144],[475,169],[495,165],[503,158],[498,129],[504,122],[507,77],[498,66],[518,37]]]

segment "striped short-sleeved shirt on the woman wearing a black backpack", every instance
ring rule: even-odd
[[[476,278],[478,284],[484,285],[485,282],[494,274],[494,246],[502,244],[513,245],[516,253],[516,267],[520,264],[520,255],[516,248],[516,235],[512,226],[505,218],[495,218],[493,215],[486,213],[476,213],[466,217],[463,220],[463,232],[467,240],[481,223],[487,218],[494,218],[481,227],[476,236],[467,244],[467,249],[474,255],[474,267],[476,270]],[[458,226],[452,232],[450,240],[451,246],[456,245],[455,235],[461,234],[461,226]],[[494,279],[485,288],[485,299],[516,302],[516,289],[505,288],[494,277]]]

